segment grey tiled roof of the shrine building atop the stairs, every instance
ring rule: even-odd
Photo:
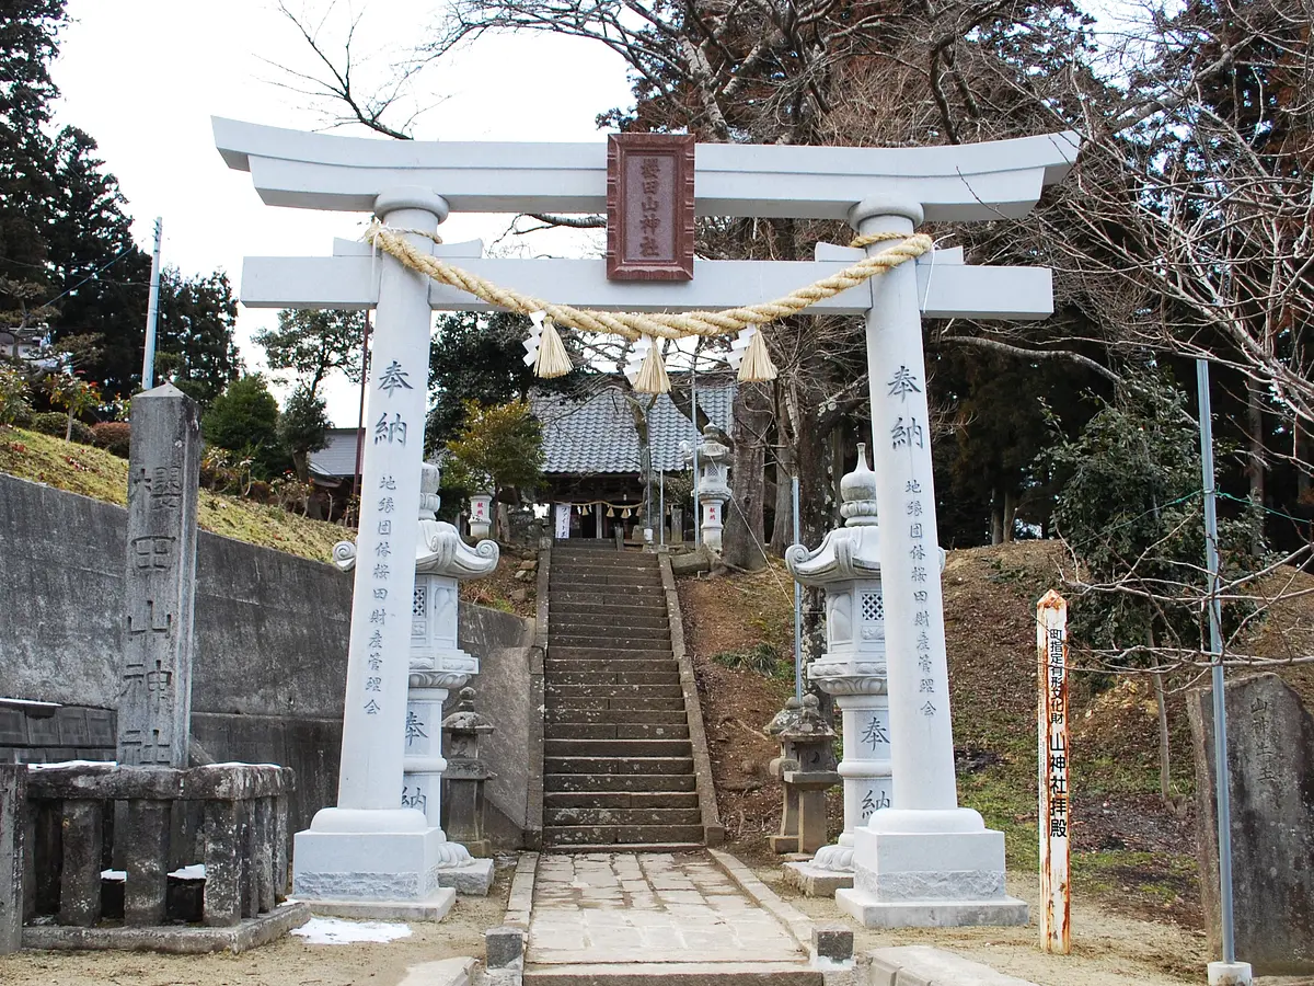
[[[690,422],[689,389],[679,393],[681,406],[669,393],[657,394],[648,411],[649,448],[653,467],[662,472],[686,468],[681,442],[694,440]],[[599,472],[639,472],[639,433],[631,397],[619,387],[606,387],[593,397],[572,400],[536,392],[530,402],[543,422],[545,473],[589,475]],[[735,404],[735,384],[698,388],[698,409],[724,431],[729,431]]]

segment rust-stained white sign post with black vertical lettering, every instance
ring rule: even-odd
[[[1068,790],[1067,602],[1050,589],[1035,606],[1039,739],[1041,948],[1068,954],[1072,893]]]

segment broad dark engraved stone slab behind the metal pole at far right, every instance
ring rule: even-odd
[[[1256,975],[1314,973],[1314,718],[1276,674],[1229,681],[1236,956]],[[1187,703],[1196,755],[1200,889],[1210,947],[1221,954],[1218,814],[1210,689]]]

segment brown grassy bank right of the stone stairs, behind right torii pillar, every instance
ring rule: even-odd
[[[1037,542],[955,551],[945,571],[959,795],[1004,831],[1009,866],[1030,872],[1037,866],[1034,611],[1035,599],[1056,584],[1053,552],[1053,544]],[[749,730],[761,730],[790,688],[712,656],[763,640],[787,656],[792,598],[775,576],[756,573],[682,580],[681,601],[723,820],[737,852],[761,855],[769,852],[765,833],[774,830],[781,803],[762,766],[778,748]],[[1138,681],[1077,676],[1072,705],[1075,889],[1197,927],[1189,805],[1179,818],[1158,795],[1152,693]],[[1194,781],[1180,699],[1169,703],[1169,718],[1173,785],[1188,794]],[[832,822],[838,820],[840,811],[832,811]]]

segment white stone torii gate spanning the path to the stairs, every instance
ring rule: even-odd
[[[222,118],[214,135],[267,204],[373,212],[399,229],[432,233],[452,210],[606,206],[600,142],[390,142]],[[1025,214],[1064,177],[1077,150],[1072,133],[915,149],[699,145],[695,210],[845,220],[858,233],[911,235],[924,221]],[[888,246],[819,245],[813,262],[698,260],[691,281],[616,283],[606,279],[603,260],[485,259],[478,242],[409,239],[526,294],[639,312],[766,301]],[[247,258],[240,296],[256,308],[377,308],[357,547],[363,559],[414,557],[414,525],[393,527],[390,518],[418,509],[431,312],[487,306],[350,241],[335,241],[326,258]],[[815,309],[867,316],[894,739],[894,807],[855,833],[855,887],[838,899],[867,924],[1025,920],[1025,904],[1004,894],[1003,835],[958,807],[921,316],[1045,318],[1053,313],[1050,271],[971,267],[961,250],[936,250]],[[338,806],[321,811],[311,831],[340,840],[336,897],[414,910],[436,890],[434,836],[419,811],[399,807],[414,572],[389,572],[384,588],[371,565],[356,567]],[[294,872],[301,897],[297,881],[309,885],[315,874]]]

